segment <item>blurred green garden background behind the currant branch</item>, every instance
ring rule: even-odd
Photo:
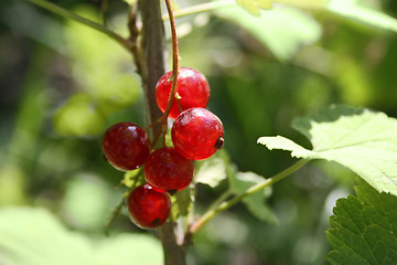
[[[99,0],[53,2],[127,34],[122,1],[107,1],[106,12]],[[397,17],[394,0],[358,2]],[[292,119],[331,104],[397,117],[393,32],[282,6],[260,19],[225,9],[176,22],[181,65],[207,76],[208,108],[224,123],[225,150],[239,171],[270,177],[292,165],[257,138],[282,135],[308,147]],[[122,172],[103,160],[101,134],[114,123],[146,123],[130,55],[84,25],[0,1],[0,264],[63,264],[65,256],[65,264],[161,264],[155,232],[125,213],[104,233],[124,190]],[[198,212],[224,182],[197,186]],[[272,188],[267,203],[277,225],[238,204],[195,236],[189,264],[325,264],[328,218],[353,186],[351,171],[312,162]]]

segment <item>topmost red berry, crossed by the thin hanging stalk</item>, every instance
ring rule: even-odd
[[[165,112],[171,93],[172,72],[165,73],[155,85],[155,100],[161,109]],[[205,76],[196,70],[181,67],[178,75],[176,93],[179,99],[174,98],[169,117],[176,118],[180,109],[186,110],[192,107],[206,107],[210,99],[210,85]]]

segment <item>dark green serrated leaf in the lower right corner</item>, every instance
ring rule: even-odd
[[[378,193],[364,181],[356,197],[336,201],[326,231],[330,264],[395,264],[397,198]]]

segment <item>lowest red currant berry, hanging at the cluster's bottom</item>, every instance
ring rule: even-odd
[[[131,191],[127,208],[133,223],[142,229],[154,229],[168,219],[171,201],[169,194],[142,184]]]

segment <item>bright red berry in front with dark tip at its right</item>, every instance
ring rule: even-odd
[[[172,142],[179,153],[191,160],[211,157],[224,144],[224,128],[216,115],[205,108],[181,113],[172,125]]]

